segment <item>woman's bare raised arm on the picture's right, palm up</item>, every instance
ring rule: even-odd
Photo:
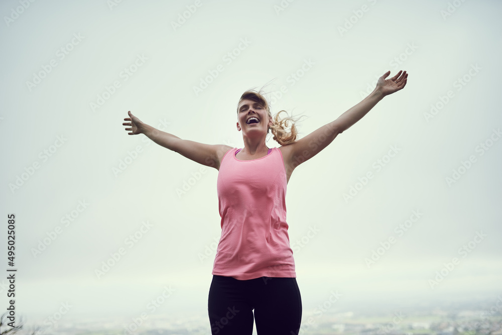
[[[408,78],[406,71],[399,71],[394,77],[385,79],[390,73],[391,71],[384,73],[376,83],[375,89],[368,96],[345,111],[335,121],[322,126],[294,143],[281,147],[286,167],[292,172],[296,166],[326,148],[338,134],[343,133],[361,120],[384,96],[397,92],[406,86]]]

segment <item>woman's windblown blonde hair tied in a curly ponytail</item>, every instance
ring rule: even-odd
[[[247,90],[240,96],[239,102],[237,103],[237,113],[238,113],[239,103],[245,99],[262,103],[265,109],[267,109],[269,117],[272,117],[272,113],[270,113],[270,106],[267,99],[263,96],[261,91],[259,92],[254,89]],[[279,115],[283,112],[286,113],[286,117],[281,119]],[[281,110],[273,118],[272,121],[273,125],[269,127],[268,131],[272,131],[272,134],[274,135],[273,139],[277,141],[280,145],[287,145],[293,143],[296,141],[296,137],[298,135],[298,131],[295,126],[298,120],[299,119],[294,119],[292,117],[289,117],[288,112],[286,110]],[[288,130],[289,127],[290,130]]]

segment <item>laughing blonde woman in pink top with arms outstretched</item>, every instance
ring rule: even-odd
[[[246,91],[237,105],[237,130],[244,147],[182,140],[144,124],[131,111],[129,135],[145,134],[155,143],[218,170],[221,238],[209,288],[212,334],[298,334],[302,301],[286,223],[286,185],[293,170],[359,121],[384,96],[405,87],[408,74],[382,75],[373,92],[335,121],[296,140],[294,120],[275,120],[259,92]],[[286,131],[288,121],[291,132]],[[267,148],[272,130],[281,147]],[[254,311],[254,313],[253,313]]]

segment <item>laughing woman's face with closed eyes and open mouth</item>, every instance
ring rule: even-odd
[[[244,99],[237,109],[237,130],[242,130],[244,136],[256,133],[267,134],[272,125],[272,117],[261,102]]]

